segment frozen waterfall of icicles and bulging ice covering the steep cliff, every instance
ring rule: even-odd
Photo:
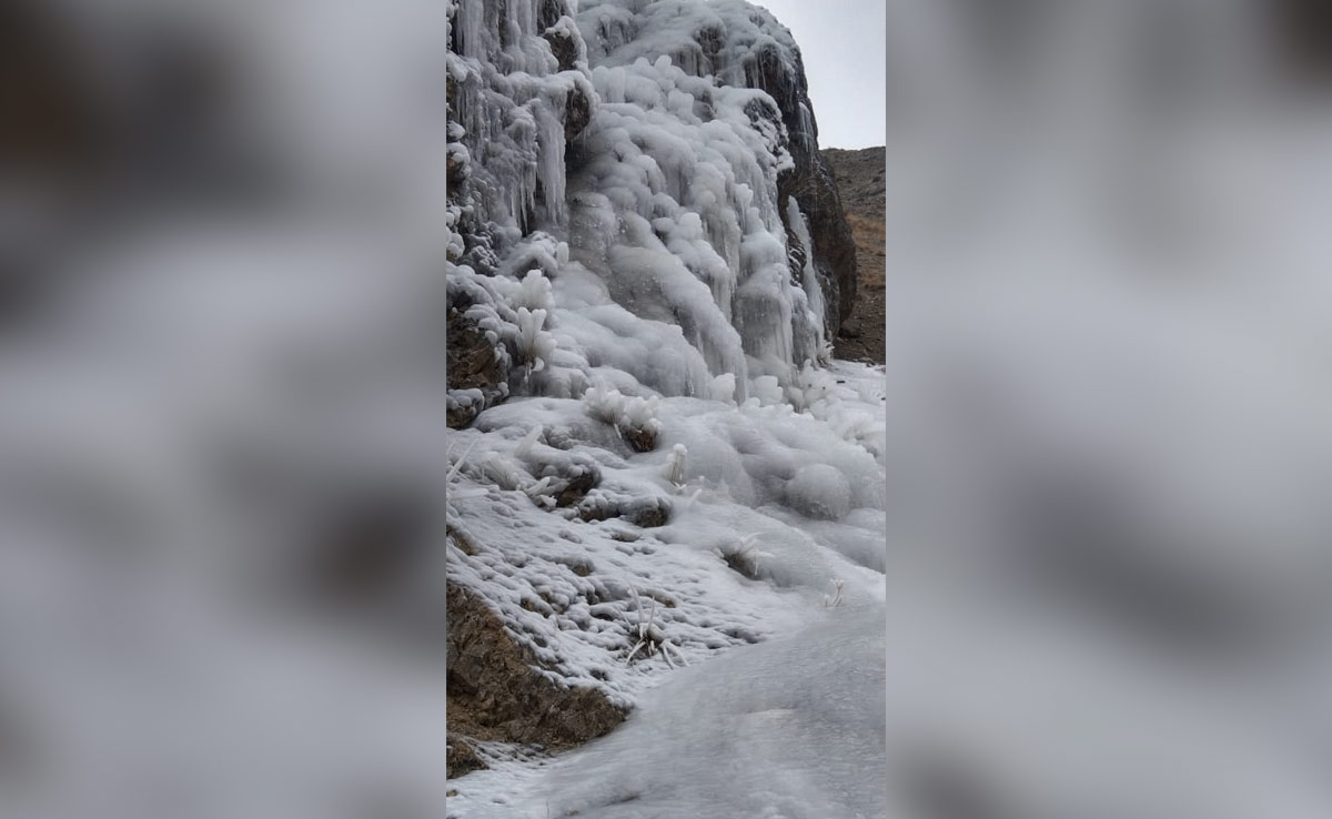
[[[452,8],[446,224],[462,250],[446,269],[458,286],[534,270],[554,284],[578,353],[543,389],[567,392],[557,384],[577,378],[570,368],[605,362],[662,394],[709,396],[733,376],[743,401],[751,378],[787,384],[819,360],[825,284],[806,214],[779,184],[791,148],[817,138],[783,27],[730,0]],[[763,89],[771,77],[786,99]],[[785,121],[793,107],[803,131]],[[658,362],[607,362],[606,337]]]

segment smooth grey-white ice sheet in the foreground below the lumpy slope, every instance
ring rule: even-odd
[[[619,730],[535,776],[501,763],[456,782],[453,804],[477,819],[884,816],[883,771],[867,764],[883,756],[884,662],[880,606],[829,610],[673,675]],[[486,799],[497,792],[511,795]]]

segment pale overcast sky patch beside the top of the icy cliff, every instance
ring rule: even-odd
[[[791,29],[805,56],[821,148],[884,142],[884,0],[750,0]]]

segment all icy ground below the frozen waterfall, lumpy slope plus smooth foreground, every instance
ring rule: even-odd
[[[453,526],[488,547],[450,547],[450,577],[563,679],[637,710],[557,760],[482,748],[492,770],[450,783],[450,815],[543,816],[547,802],[585,816],[882,815],[882,437],[851,443],[814,414],[882,429],[882,370],[835,362],[826,376],[810,414],[758,398],[663,400],[658,447],[643,454],[613,451],[613,430],[605,447],[541,443],[575,429],[598,438],[587,426],[605,422],[574,401],[511,401],[482,414],[488,431],[454,435],[470,451]],[[670,522],[583,522],[533,502],[534,462],[585,458],[602,477],[590,499],[655,498]],[[490,482],[505,473],[527,475],[517,479],[529,491]],[[689,669],[626,659],[635,593],[662,601],[655,622]]]

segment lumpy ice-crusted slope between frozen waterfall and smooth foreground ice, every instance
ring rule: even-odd
[[[851,394],[844,390],[843,400]],[[635,453],[618,430],[647,425],[657,429],[657,447]],[[630,702],[642,684],[634,667],[615,662],[631,646],[631,590],[673,601],[658,617],[690,662],[699,651],[791,629],[798,609],[817,606],[838,578],[847,579],[848,599],[882,599],[882,543],[876,557],[844,557],[855,555],[844,543],[867,539],[875,526],[882,531],[875,514],[882,509],[882,466],[810,415],[698,398],[626,398],[598,385],[583,401],[511,398],[452,437],[469,447],[457,486],[472,493],[457,493],[450,525],[488,549],[474,555],[450,549],[450,577],[484,590],[519,634],[539,635],[525,639],[562,678],[619,702]],[[822,503],[819,519],[832,518],[817,531],[810,531],[813,518],[783,518],[781,510],[793,491],[787,485],[802,487],[797,465],[807,462],[835,473],[843,490],[830,501],[826,487],[803,486]],[[829,463],[855,475],[863,489],[851,491]],[[549,481],[543,494],[554,494],[555,481],[587,470],[601,481],[575,507],[550,511],[531,502],[542,481]],[[698,489],[706,491],[691,497]],[[852,515],[852,503],[870,515]],[[667,510],[666,525],[631,526],[627,521],[645,507]],[[621,517],[590,514],[597,510]],[[842,517],[851,519],[839,526]],[[763,558],[753,578],[726,569],[721,557],[737,542],[726,533],[757,535]],[[574,557],[593,567],[590,574],[571,573]],[[805,603],[793,610],[786,595],[773,597],[774,589]],[[547,605],[535,605],[537,613],[525,609],[523,601],[531,607],[535,598],[554,601],[562,617],[551,619]],[[591,618],[593,610],[611,617]]]

